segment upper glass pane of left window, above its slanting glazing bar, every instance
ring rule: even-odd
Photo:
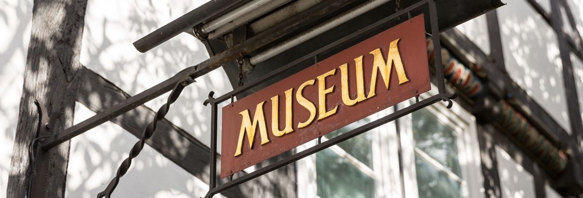
[[[324,137],[331,139],[332,137],[339,136],[342,133],[349,132],[352,129],[356,129],[359,126],[365,125],[368,122],[370,122],[369,118],[360,119],[360,121],[353,122],[350,125],[328,133],[324,135]],[[359,136],[339,143],[338,146],[345,150],[346,153],[352,155],[352,157],[356,158],[360,162],[363,162],[363,164],[367,165],[371,169],[373,168],[373,146],[371,142],[371,132],[364,132]]]

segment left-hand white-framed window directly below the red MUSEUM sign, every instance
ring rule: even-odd
[[[389,108],[390,109],[390,108]],[[322,142],[374,121],[391,111],[354,122]],[[297,162],[298,197],[400,197],[395,123],[387,123]],[[315,146],[317,140],[298,147]]]

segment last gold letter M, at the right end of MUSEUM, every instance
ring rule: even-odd
[[[370,91],[368,91],[367,98],[373,97],[375,95],[375,89],[377,86],[377,70],[381,71],[382,79],[385,81],[385,87],[389,89],[389,79],[391,78],[393,63],[395,63],[395,70],[397,71],[399,84],[403,84],[409,81],[405,75],[405,69],[403,68],[403,62],[401,61],[401,54],[399,54],[399,48],[397,46],[399,40],[400,38],[397,38],[391,42],[387,55],[387,62],[385,62],[385,59],[382,56],[381,49],[377,48],[370,52],[370,54],[374,56],[374,61],[373,75],[371,76],[370,80]]]

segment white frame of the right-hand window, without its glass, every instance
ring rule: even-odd
[[[427,91],[427,93],[421,94],[419,96],[419,100],[429,98],[436,93],[437,87],[432,83],[431,90]],[[413,103],[411,101],[412,100],[403,101],[399,103],[397,107],[407,107]],[[425,109],[436,116],[438,121],[454,129],[454,132],[456,133],[458,160],[461,168],[461,176],[459,176],[459,178],[463,181],[462,197],[484,197],[484,179],[482,175],[480,149],[477,142],[476,118],[468,111],[463,109],[463,107],[461,107],[461,105],[459,105],[457,102],[452,102],[454,102],[454,105],[450,109],[446,107],[447,103],[445,102],[437,102],[436,104],[430,105]],[[415,189],[406,190],[404,197],[419,197],[415,167],[415,153],[419,153],[419,149],[416,151],[415,140],[413,139],[412,114],[403,116],[402,118],[398,119],[397,122],[399,122],[399,131],[401,132],[403,186],[404,189]],[[434,167],[435,163],[438,163],[436,161],[426,161]],[[441,165],[441,168],[445,167]],[[436,167],[436,169],[440,172],[444,172],[438,167]]]

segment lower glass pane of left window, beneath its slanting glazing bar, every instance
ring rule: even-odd
[[[374,197],[374,180],[330,149],[316,153],[318,196]]]

